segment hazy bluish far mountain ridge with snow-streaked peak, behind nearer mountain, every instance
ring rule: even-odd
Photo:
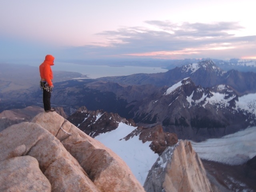
[[[224,71],[212,61],[205,60],[198,63],[176,67],[168,72],[156,74],[134,74],[130,76],[106,77],[97,80],[118,82],[120,84],[154,86],[172,86],[180,80],[190,77],[196,85],[203,87],[227,84],[238,92],[246,94],[256,92],[256,74],[254,72],[239,72],[237,70]]]

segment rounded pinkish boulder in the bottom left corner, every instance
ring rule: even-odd
[[[18,156],[0,162],[0,191],[50,192],[51,184],[36,158]]]

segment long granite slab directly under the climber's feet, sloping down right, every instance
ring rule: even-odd
[[[144,191],[119,156],[57,113],[38,114],[32,122],[42,125],[62,142],[100,191]]]

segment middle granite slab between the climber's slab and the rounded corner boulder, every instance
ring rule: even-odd
[[[0,133],[0,139],[4,146],[0,150],[0,161],[25,155],[36,158],[52,191],[98,191],[60,140],[39,124],[22,122],[12,125]],[[23,179],[16,182],[22,183]]]

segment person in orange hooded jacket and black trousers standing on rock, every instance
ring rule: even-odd
[[[54,56],[46,55],[44,62],[39,66],[41,76],[40,86],[43,90],[43,102],[45,112],[55,111],[54,108],[51,108],[50,102],[52,88],[54,87],[52,84],[52,65],[54,65]]]

